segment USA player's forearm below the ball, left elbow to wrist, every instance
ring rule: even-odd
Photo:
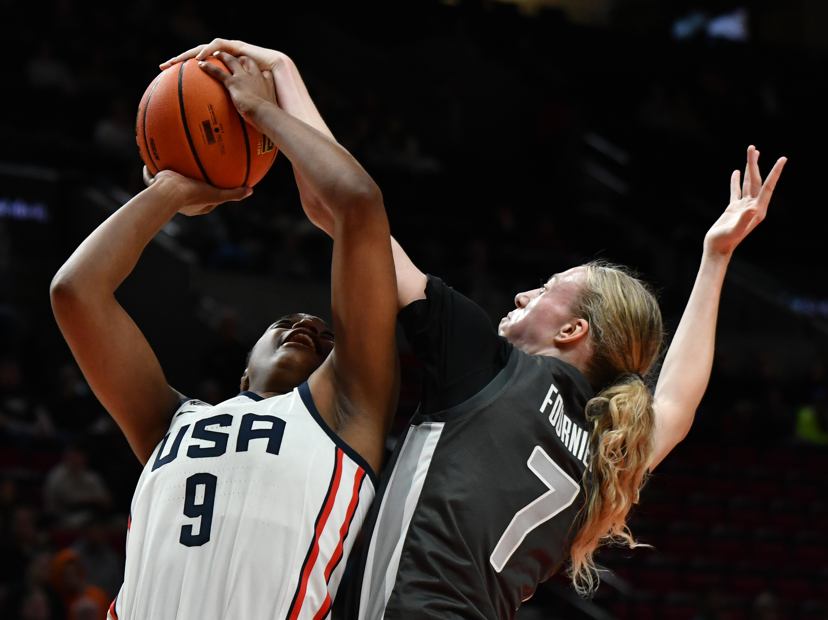
[[[91,299],[113,294],[132,272],[152,237],[180,206],[174,189],[164,180],[128,201],[99,225],[58,270],[52,280],[53,302],[66,295]]]

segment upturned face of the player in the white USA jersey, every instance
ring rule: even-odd
[[[250,352],[248,390],[285,393],[301,385],[334,349],[334,332],[322,319],[295,314],[267,328]]]

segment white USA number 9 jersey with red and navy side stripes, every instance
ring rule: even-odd
[[[323,620],[373,500],[307,383],[182,401],[132,497],[113,620]]]

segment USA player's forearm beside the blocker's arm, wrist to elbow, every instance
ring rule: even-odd
[[[262,103],[254,114],[258,127],[291,161],[306,188],[324,203],[334,220],[382,209],[377,184],[334,139],[274,104]]]

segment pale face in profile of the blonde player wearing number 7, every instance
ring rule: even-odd
[[[500,321],[498,333],[521,351],[548,355],[556,335],[575,319],[572,308],[585,275],[583,267],[574,267],[553,275],[541,288],[518,293],[517,308]]]

